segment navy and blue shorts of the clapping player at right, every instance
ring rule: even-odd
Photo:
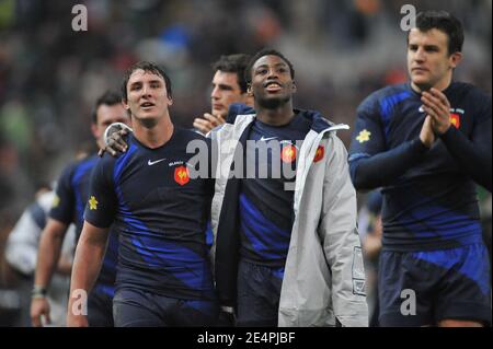
[[[382,251],[378,288],[381,326],[429,326],[443,319],[491,324],[490,260],[483,244]]]

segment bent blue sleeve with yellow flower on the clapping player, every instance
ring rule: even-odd
[[[388,150],[380,109],[370,96],[357,110],[349,149],[353,185],[357,190],[387,186],[416,164],[426,151],[419,138]]]

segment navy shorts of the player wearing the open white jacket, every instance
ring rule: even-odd
[[[240,261],[237,326],[277,327],[284,268]]]

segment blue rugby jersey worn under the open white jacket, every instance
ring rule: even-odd
[[[245,151],[245,170],[252,178],[242,181],[240,193],[240,254],[250,263],[285,265],[294,221],[297,155],[310,127],[311,121],[298,113],[288,125],[274,127],[255,119],[250,129],[248,144],[255,141],[267,149],[265,159],[259,147],[248,151],[246,146]],[[274,166],[278,166],[277,175]],[[289,183],[291,190],[285,187]]]

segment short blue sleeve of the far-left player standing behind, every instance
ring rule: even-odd
[[[67,225],[73,221],[76,210],[76,194],[71,184],[74,167],[76,164],[68,165],[58,178],[54,201],[49,211],[50,218]]]

